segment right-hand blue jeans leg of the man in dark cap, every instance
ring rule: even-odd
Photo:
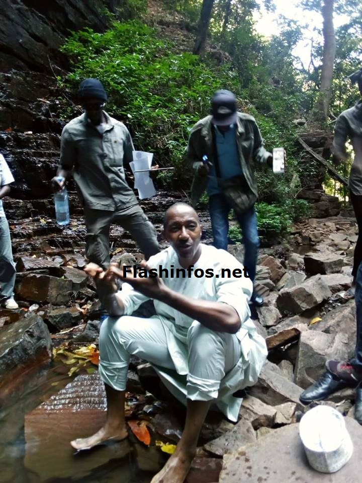
[[[244,267],[247,269],[251,281],[254,282],[259,249],[259,235],[254,207],[251,207],[245,213],[238,214],[236,219],[243,232],[245,247]]]

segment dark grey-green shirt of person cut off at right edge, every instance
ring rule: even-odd
[[[334,128],[334,160],[340,161],[347,158],[345,144],[348,138],[354,151],[349,174],[349,189],[354,195],[362,196],[362,101],[338,116]]]

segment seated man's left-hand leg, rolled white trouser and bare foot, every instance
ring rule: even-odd
[[[107,419],[94,435],[72,441],[75,449],[87,449],[110,438],[123,439],[127,436],[124,405],[131,354],[174,369],[164,329],[157,318],[109,317],[101,326],[99,340],[99,371],[106,386]]]

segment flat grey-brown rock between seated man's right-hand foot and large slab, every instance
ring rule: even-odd
[[[256,441],[255,431],[249,421],[241,419],[231,431],[204,445],[204,449],[215,456],[224,456],[235,448]]]

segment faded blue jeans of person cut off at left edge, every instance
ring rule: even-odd
[[[0,299],[13,296],[15,277],[9,223],[5,216],[0,216]]]

